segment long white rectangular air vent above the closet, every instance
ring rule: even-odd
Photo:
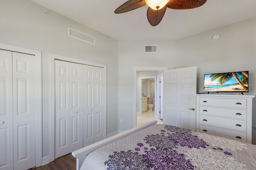
[[[75,39],[79,39],[81,41],[85,41],[87,43],[91,43],[95,45],[95,37],[82,33],[72,28],[68,28],[68,36],[73,37]]]

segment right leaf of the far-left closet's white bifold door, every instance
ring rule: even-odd
[[[36,166],[36,61],[12,52],[14,169]]]

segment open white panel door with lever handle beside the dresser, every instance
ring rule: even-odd
[[[163,123],[196,131],[196,67],[164,70]]]

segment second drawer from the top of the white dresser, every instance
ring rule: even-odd
[[[242,109],[229,109],[229,108],[220,108],[220,107],[207,107],[200,106],[199,113],[204,115],[215,115],[222,117],[231,117],[236,119],[246,119],[246,110]]]

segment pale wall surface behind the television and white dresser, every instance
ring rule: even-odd
[[[214,41],[216,33],[220,39]],[[256,95],[256,18],[177,40],[176,66],[197,66],[198,92],[204,90],[204,74],[249,70],[248,94]],[[256,127],[256,98],[252,111]]]

